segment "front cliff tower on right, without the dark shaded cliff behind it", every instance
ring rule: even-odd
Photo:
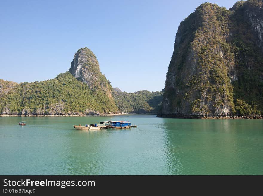
[[[181,22],[166,75],[163,115],[231,114],[227,21],[226,9],[205,3]]]

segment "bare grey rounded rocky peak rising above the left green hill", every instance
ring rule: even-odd
[[[100,72],[100,65],[95,54],[88,49],[80,48],[74,55],[69,72],[78,80],[87,84],[90,89],[102,89],[111,97],[111,84]]]

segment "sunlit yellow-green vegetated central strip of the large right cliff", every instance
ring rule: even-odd
[[[230,12],[224,7],[206,3],[198,7],[201,27],[195,32],[191,43],[196,58],[196,72],[186,84],[190,87],[188,96],[194,92],[195,100],[191,102],[192,112],[202,115],[222,115],[216,113],[224,106],[233,107],[233,88],[227,73],[233,63],[230,45],[224,38],[229,34],[227,24]],[[204,104],[201,104],[201,99]],[[209,107],[212,105],[212,107]],[[230,114],[226,112],[223,115]]]

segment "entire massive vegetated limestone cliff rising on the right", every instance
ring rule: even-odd
[[[226,10],[201,4],[181,22],[158,116],[200,118],[262,111],[262,1]]]

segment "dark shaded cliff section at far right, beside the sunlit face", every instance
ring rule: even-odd
[[[261,42],[254,26],[261,28],[263,2],[238,1],[230,10],[231,52],[235,55],[236,80],[232,82],[237,114],[240,103],[247,103],[243,113],[263,113],[263,58]],[[255,24],[254,21],[255,20]],[[249,108],[256,108],[254,110]],[[242,114],[241,114],[242,115]]]

